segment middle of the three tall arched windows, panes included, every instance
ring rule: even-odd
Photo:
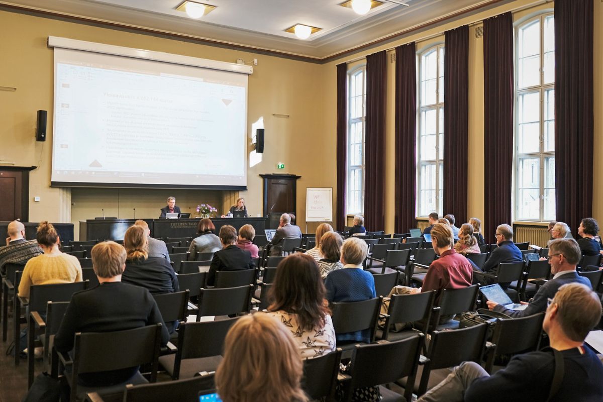
[[[444,172],[444,45],[420,54],[417,215],[442,213]]]

